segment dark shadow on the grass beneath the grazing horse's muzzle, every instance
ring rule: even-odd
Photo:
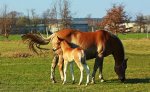
[[[106,83],[119,83],[118,79],[107,80]],[[128,84],[137,84],[137,83],[150,83],[150,78],[134,78],[134,79],[126,79],[124,83]]]

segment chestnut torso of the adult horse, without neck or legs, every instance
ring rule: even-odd
[[[72,43],[73,46],[79,46],[83,48],[86,52],[87,59],[95,58],[97,54],[107,56],[112,53],[113,47],[115,47],[110,43],[110,40],[113,40],[110,37],[113,35],[103,30],[96,32],[81,32],[78,30],[65,29],[56,32],[54,36],[56,35],[61,39]],[[118,39],[115,36],[113,38]],[[53,42],[52,44],[56,44],[58,40],[54,39]],[[114,43],[114,45],[117,44]]]

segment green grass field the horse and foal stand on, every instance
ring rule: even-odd
[[[52,51],[37,56],[20,41],[19,35],[10,36],[9,40],[0,37],[0,92],[150,92],[150,40],[143,39],[145,36],[140,35],[137,39],[133,35],[119,35],[123,39],[126,57],[129,58],[126,82],[121,83],[117,79],[114,60],[110,55],[104,60],[103,75],[106,82],[101,83],[97,73],[96,84],[88,86],[85,86],[85,76],[83,84],[77,85],[80,72],[76,65],[74,65],[75,84],[71,84],[69,68],[65,85],[61,84],[58,68],[56,68],[57,83],[52,84],[50,81]],[[46,47],[50,48],[50,45]],[[25,58],[24,54],[29,57]],[[88,60],[87,63],[92,72],[94,59]]]

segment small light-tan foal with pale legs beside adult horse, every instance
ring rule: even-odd
[[[80,81],[79,81],[78,85],[81,85],[81,83],[82,83],[84,68],[86,69],[86,73],[87,73],[86,85],[88,85],[90,71],[89,71],[88,65],[86,64],[86,57],[84,54],[84,50],[82,50],[81,48],[71,48],[70,45],[65,40],[61,41],[60,48],[62,49],[63,58],[64,58],[64,81],[63,81],[63,84],[66,83],[66,71],[67,71],[68,63],[71,63],[70,69],[71,69],[71,74],[72,74],[72,81],[74,82],[74,74],[73,74],[73,66],[72,66],[73,61],[74,61],[77,64],[77,66],[79,67],[80,72],[81,72]]]

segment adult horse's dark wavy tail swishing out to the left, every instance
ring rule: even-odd
[[[37,54],[37,49],[49,50],[47,48],[41,48],[40,45],[47,45],[50,42],[51,37],[44,38],[42,35],[39,34],[28,33],[22,35],[21,38],[23,41],[28,41],[29,49]]]

